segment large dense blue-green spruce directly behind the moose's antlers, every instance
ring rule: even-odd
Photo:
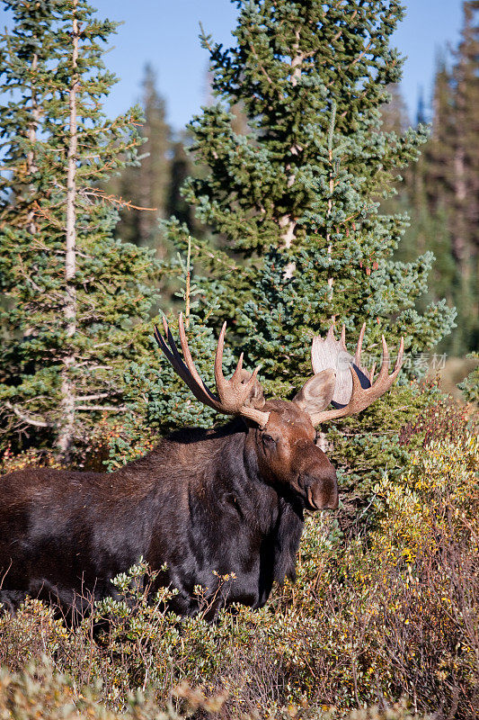
[[[184,189],[200,220],[245,260],[229,276],[224,263],[216,272],[212,264],[209,293],[222,316],[235,320],[275,392],[302,382],[309,338],[332,321],[354,337],[366,320],[373,351],[382,332],[392,343],[404,335],[412,353],[433,347],[454,311],[446,302],[416,310],[432,254],[395,262],[408,218],[378,212],[379,199],[395,192],[397,169],[418,157],[427,135],[381,127],[387,87],[401,75],[389,47],[401,5],[237,5],[235,47],[202,35],[217,103],[191,123],[208,175]],[[233,129],[237,103],[247,135]],[[178,226],[172,234],[181,240]]]

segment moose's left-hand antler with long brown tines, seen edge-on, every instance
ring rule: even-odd
[[[223,328],[219,333],[217,353],[215,356],[217,396],[208,390],[193,363],[190,348],[188,347],[188,340],[186,339],[182,313],[180,313],[178,324],[184,362],[165,318],[163,319],[165,337],[160,335],[160,332],[155,326],[155,340],[163,350],[164,355],[173,365],[173,369],[180,375],[182,381],[188,385],[195,398],[204,405],[208,405],[209,408],[213,408],[213,410],[225,413],[226,415],[239,415],[242,418],[253,420],[253,422],[258,423],[258,425],[263,428],[270,418],[270,413],[262,412],[258,407],[254,407],[254,405],[264,405],[262,393],[258,392],[260,383],[256,380],[260,368],[257,367],[250,377],[249,374],[243,370],[242,353],[232,377],[226,380],[223,374],[223,347],[225,345],[226,322],[223,324]],[[248,376],[248,379],[246,379],[246,376]]]

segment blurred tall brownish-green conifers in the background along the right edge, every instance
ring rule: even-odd
[[[405,246],[420,242],[438,258],[429,296],[447,293],[457,306],[457,329],[441,343],[441,350],[454,355],[474,349],[479,338],[478,11],[476,0],[464,3],[464,28],[452,63],[445,53],[439,55],[431,138],[406,175],[412,229]]]

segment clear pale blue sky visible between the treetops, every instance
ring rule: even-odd
[[[106,102],[106,112],[119,114],[137,101],[144,67],[150,62],[166,100],[168,120],[174,128],[182,128],[207,95],[208,53],[200,48],[199,23],[214,40],[229,45],[234,40],[235,4],[229,0],[91,0],[91,4],[100,16],[124,21],[105,58],[120,77]],[[407,56],[403,92],[414,117],[420,86],[426,99],[430,96],[439,49],[448,42],[457,44],[462,0],[405,0],[404,4],[406,19],[394,41]]]

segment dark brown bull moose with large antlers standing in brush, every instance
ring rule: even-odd
[[[0,480],[0,601],[15,607],[27,595],[75,608],[85,593],[114,595],[111,579],[143,557],[155,587],[177,590],[171,608],[191,615],[195,586],[217,608],[239,602],[260,608],[273,581],[294,579],[304,511],[336,509],[333,464],[315,445],[315,427],[364,410],[399,373],[404,343],[389,374],[383,360],[373,382],[333,326],[313,340],[314,374],[292,401],[265,401],[243,370],[243,354],[226,380],[226,323],[215,358],[217,394],[200,378],[182,321],[182,356],[164,320],[155,338],[193,395],[234,416],[213,429],[184,428],[114,473],[27,468]],[[333,409],[325,410],[333,403]],[[233,581],[218,589],[218,575]],[[226,590],[225,590],[226,589]]]

